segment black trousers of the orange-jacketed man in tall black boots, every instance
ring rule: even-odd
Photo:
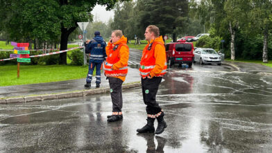
[[[142,93],[147,114],[158,114],[162,108],[156,102],[156,95],[159,89],[162,77],[142,78]]]

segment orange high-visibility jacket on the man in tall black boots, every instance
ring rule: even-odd
[[[148,42],[144,48],[139,71],[142,78],[146,78],[148,75],[151,75],[151,78],[158,77],[166,73],[167,56],[162,36]]]

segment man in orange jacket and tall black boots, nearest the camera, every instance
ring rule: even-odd
[[[148,44],[142,53],[139,71],[142,76],[142,93],[146,105],[147,124],[142,129],[137,129],[137,132],[161,134],[167,127],[167,123],[164,121],[164,111],[155,97],[160,82],[162,82],[162,76],[167,70],[164,41],[160,36],[159,28],[153,25],[146,28],[144,37],[146,37]],[[156,131],[154,127],[155,118],[158,120]]]

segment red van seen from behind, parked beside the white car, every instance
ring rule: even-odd
[[[192,67],[194,62],[194,45],[192,42],[172,42],[166,44],[167,62],[173,64],[188,64]]]

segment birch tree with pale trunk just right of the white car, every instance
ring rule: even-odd
[[[216,30],[217,35],[230,34],[231,60],[235,60],[235,37],[238,30],[248,23],[250,0],[201,0],[195,7],[198,15]],[[195,2],[197,3],[197,2]]]

